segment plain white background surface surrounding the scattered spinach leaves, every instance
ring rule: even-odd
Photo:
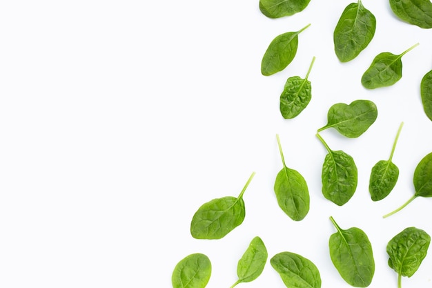
[[[269,259],[291,251],[312,260],[322,287],[349,287],[333,267],[328,238],[363,229],[373,245],[370,287],[397,287],[386,244],[406,227],[432,234],[430,198],[391,218],[413,195],[413,171],[432,151],[432,122],[420,80],[432,68],[432,30],[397,19],[388,1],[362,3],[377,19],[371,44],[340,63],[333,30],[351,1],[312,0],[291,17],[268,19],[258,1],[2,1],[0,5],[0,287],[171,287],[190,253],[213,265],[208,288],[230,287],[237,261],[260,236]],[[279,34],[299,36],[293,62],[264,77],[262,55]],[[404,55],[394,86],[366,90],[360,79],[375,55]],[[279,113],[288,77],[309,75],[312,100],[291,120]],[[348,139],[321,133],[353,156],[358,186],[337,207],[321,193],[326,150],[315,137],[331,105],[370,99],[378,117]],[[372,202],[369,173],[389,157],[400,177]],[[277,206],[282,161],[302,173],[311,210],[294,222]],[[222,240],[196,240],[189,225],[201,204],[244,194],[246,218]],[[431,253],[432,254],[432,253]],[[432,287],[432,255],[403,287]],[[284,287],[270,263],[239,287]]]

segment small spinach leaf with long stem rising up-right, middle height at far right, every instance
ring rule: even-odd
[[[400,124],[399,130],[397,130],[389,160],[380,160],[372,167],[371,177],[369,177],[369,193],[373,201],[386,198],[396,185],[399,169],[391,160],[393,159],[393,153],[395,153],[397,139],[399,138],[402,126],[404,126],[404,122]]]

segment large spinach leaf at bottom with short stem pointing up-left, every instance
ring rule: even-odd
[[[328,247],[333,265],[353,287],[368,287],[375,272],[372,245],[366,233],[357,227],[341,229],[330,217],[337,232],[330,236]]]

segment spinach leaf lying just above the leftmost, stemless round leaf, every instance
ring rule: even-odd
[[[220,239],[242,224],[246,214],[243,194],[255,172],[237,198],[226,196],[202,204],[190,222],[190,234],[196,239]]]

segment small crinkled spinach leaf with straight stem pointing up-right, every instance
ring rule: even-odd
[[[292,119],[299,115],[312,98],[311,81],[308,81],[309,73],[313,66],[315,57],[312,58],[311,66],[304,79],[299,76],[289,77],[285,88],[280,95],[280,113],[285,119]]]

